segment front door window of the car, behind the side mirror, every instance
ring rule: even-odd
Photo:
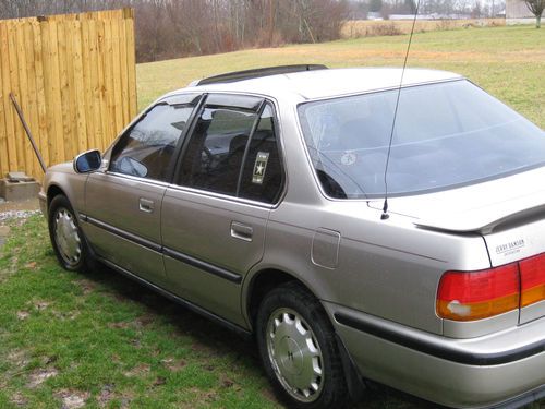
[[[196,99],[193,96],[178,98],[172,104],[160,103],[153,107],[118,141],[112,149],[109,170],[165,181],[170,159]]]

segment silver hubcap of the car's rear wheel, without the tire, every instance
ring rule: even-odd
[[[291,309],[278,309],[267,323],[267,350],[275,374],[295,399],[312,402],[324,386],[323,359],[311,326]]]

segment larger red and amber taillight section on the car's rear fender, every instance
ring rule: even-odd
[[[473,321],[519,308],[518,263],[481,272],[447,272],[437,292],[443,318]]]

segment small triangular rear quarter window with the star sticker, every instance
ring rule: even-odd
[[[272,107],[267,104],[247,148],[239,196],[274,203],[282,185],[282,167]]]

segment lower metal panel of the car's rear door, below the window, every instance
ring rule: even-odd
[[[263,256],[268,213],[268,206],[170,187],[161,230],[173,292],[245,326],[241,282]],[[195,267],[184,256],[209,267]]]

